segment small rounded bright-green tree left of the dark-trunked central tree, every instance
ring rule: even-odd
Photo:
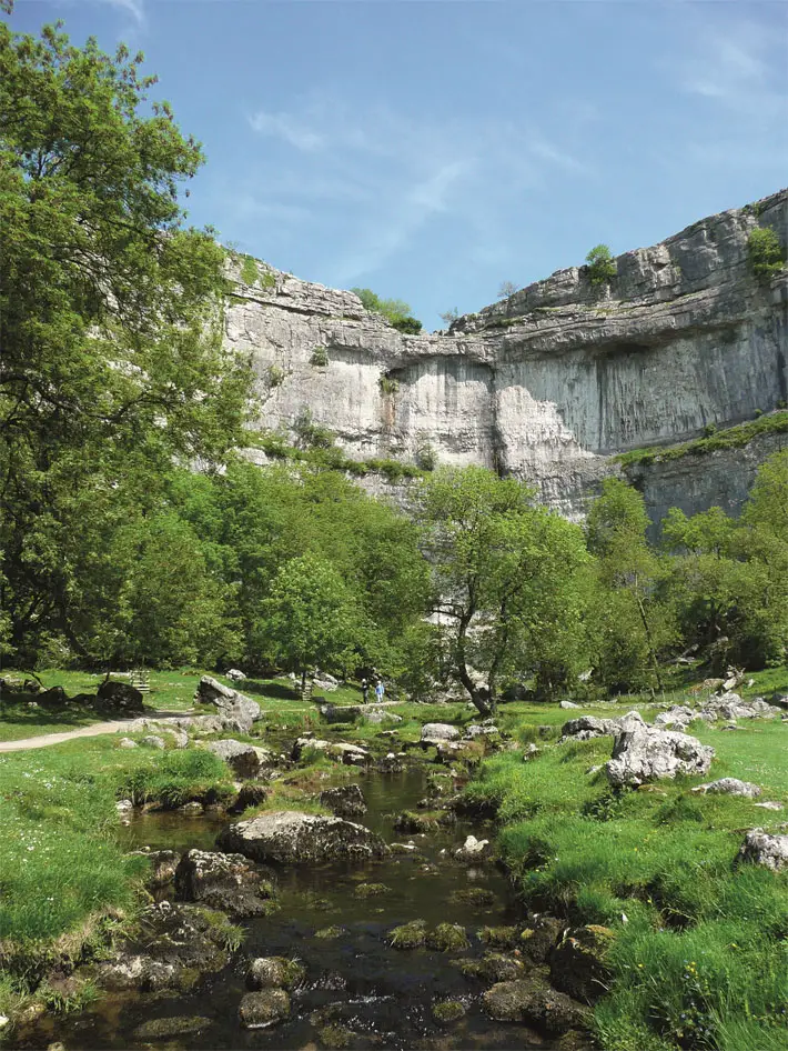
[[[358,655],[358,603],[325,559],[304,554],[280,567],[264,602],[265,635],[277,663],[301,673],[345,671]]]

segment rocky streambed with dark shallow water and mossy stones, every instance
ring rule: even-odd
[[[589,1047],[587,1008],[549,984],[560,924],[526,915],[473,840],[457,857],[489,830],[420,808],[428,779],[413,762],[330,790],[356,830],[315,815],[330,861],[295,861],[293,819],[277,845],[251,849],[254,819],[127,819],[129,849],[155,858],[154,901],[133,939],[83,969],[102,997],[39,1019],[19,1045]],[[257,820],[269,834],[280,818]]]

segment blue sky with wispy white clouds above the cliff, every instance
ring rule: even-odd
[[[427,329],[788,183],[788,4],[17,0],[125,40],[208,163],[190,216]]]

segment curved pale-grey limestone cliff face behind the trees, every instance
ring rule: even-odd
[[[574,517],[613,454],[788,401],[788,271],[754,278],[757,226],[785,249],[788,190],[619,256],[609,286],[562,270],[433,336],[402,336],[351,292],[263,267],[250,284],[238,267],[226,338],[252,356],[261,427],[309,409],[350,456],[408,460],[430,444],[440,462],[527,479]],[[679,502],[659,477],[655,511]],[[714,486],[695,489],[714,502]]]

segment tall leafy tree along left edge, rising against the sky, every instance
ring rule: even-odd
[[[173,459],[210,462],[242,422],[223,252],[179,204],[202,153],[148,101],[141,61],[0,23],[0,579],[21,653],[54,631],[94,655],[81,603],[118,521],[140,523]]]

